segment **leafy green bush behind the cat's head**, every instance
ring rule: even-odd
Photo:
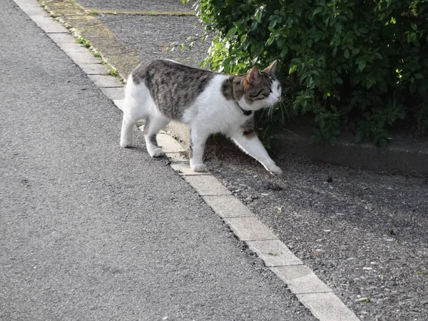
[[[286,111],[313,114],[311,141],[334,144],[347,125],[385,146],[398,120],[427,131],[428,0],[196,0],[195,10],[214,34],[204,66],[243,73],[280,60]]]

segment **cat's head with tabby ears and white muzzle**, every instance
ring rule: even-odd
[[[281,84],[275,77],[277,61],[260,71],[254,66],[245,74],[240,85],[243,96],[238,100],[241,108],[257,111],[275,105],[281,100]]]

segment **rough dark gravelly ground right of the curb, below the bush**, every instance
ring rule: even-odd
[[[428,320],[426,178],[287,157],[275,178],[220,144],[206,161],[361,320]]]

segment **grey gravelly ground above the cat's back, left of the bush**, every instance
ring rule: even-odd
[[[189,66],[199,66],[207,56],[210,41],[195,41],[193,49],[174,52],[165,50],[171,44],[183,44],[189,36],[203,31],[195,16],[101,16],[99,19],[113,31],[138,58],[168,58]]]

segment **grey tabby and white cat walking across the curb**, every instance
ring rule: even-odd
[[[146,121],[146,148],[152,157],[163,156],[156,134],[171,121],[190,127],[190,168],[206,171],[205,141],[223,133],[274,175],[282,170],[260,143],[254,131],[254,112],[281,99],[275,78],[277,61],[260,71],[257,66],[242,75],[226,75],[185,66],[171,60],[154,60],[138,66],[128,77],[123,105],[121,146],[132,146],[133,126]]]

